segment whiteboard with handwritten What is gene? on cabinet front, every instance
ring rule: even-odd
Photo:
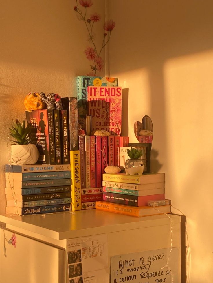
[[[179,283],[179,248],[120,254],[111,258],[111,283]]]

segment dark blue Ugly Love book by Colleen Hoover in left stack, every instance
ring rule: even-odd
[[[70,191],[71,191],[71,185],[46,187],[46,188],[18,189],[19,193],[16,193],[16,190],[15,190],[15,193],[24,196],[24,195],[30,195],[30,194],[62,193],[62,192],[70,192]],[[12,194],[12,189],[9,187],[5,188],[5,194]]]

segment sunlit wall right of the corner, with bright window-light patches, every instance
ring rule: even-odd
[[[212,1],[110,1],[110,76],[135,121],[153,121],[152,172],[165,172],[173,213],[187,219],[188,283],[212,283]],[[177,208],[177,209],[175,209]]]

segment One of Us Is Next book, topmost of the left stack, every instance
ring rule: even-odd
[[[5,165],[5,172],[26,173],[26,172],[54,172],[54,171],[70,171],[70,164],[67,165]]]

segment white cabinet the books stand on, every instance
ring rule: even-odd
[[[0,215],[5,237],[16,233],[16,248],[0,234],[0,283],[69,283],[66,240],[107,234],[108,265],[117,254],[180,248],[180,216],[131,217],[97,209],[45,215]],[[171,225],[172,224],[172,225]],[[172,230],[171,230],[172,228]],[[179,255],[180,282],[180,255]],[[110,268],[109,268],[110,270]]]

